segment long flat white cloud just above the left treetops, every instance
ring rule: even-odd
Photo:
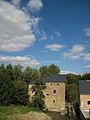
[[[40,65],[40,62],[32,57],[22,57],[22,56],[0,56],[0,62],[6,64],[20,64],[22,66],[35,67]]]

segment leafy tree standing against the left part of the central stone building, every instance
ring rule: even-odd
[[[45,103],[44,103],[44,94],[43,94],[43,90],[46,88],[44,81],[42,80],[37,80],[33,86],[33,92],[34,92],[34,96],[33,96],[33,101],[32,101],[32,105],[35,108],[38,109],[43,109],[45,108]]]

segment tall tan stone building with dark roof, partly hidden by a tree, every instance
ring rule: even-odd
[[[45,105],[49,111],[62,112],[65,110],[65,76],[51,75],[44,79],[46,82],[46,89],[43,90],[45,95]],[[29,84],[30,99],[32,93],[32,84]]]

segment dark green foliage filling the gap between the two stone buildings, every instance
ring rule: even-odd
[[[81,79],[80,75],[67,74],[66,75],[66,101],[76,105],[78,100],[78,81]]]

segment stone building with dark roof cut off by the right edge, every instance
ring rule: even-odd
[[[90,80],[79,81],[79,108],[85,118],[90,117]]]

